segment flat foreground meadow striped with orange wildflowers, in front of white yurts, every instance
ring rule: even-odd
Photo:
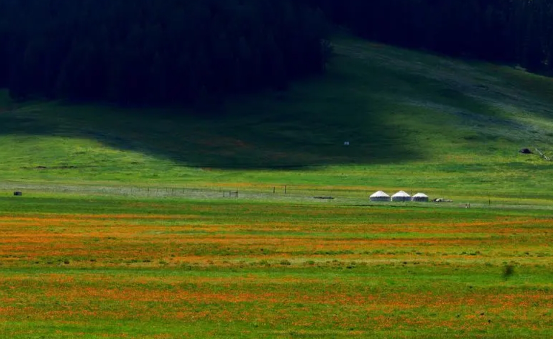
[[[11,338],[553,337],[547,210],[0,199]]]

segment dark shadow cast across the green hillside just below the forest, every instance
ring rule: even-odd
[[[447,85],[424,76],[405,79],[405,75],[391,72],[379,79],[385,76],[393,77],[390,84],[421,84],[416,90],[401,93],[406,97],[424,95],[442,107],[454,107],[455,111],[439,113],[446,116],[448,124],[432,126],[435,131],[419,130],[430,128],[419,124],[431,121],[432,116],[424,114],[432,112],[432,108],[422,116],[414,116],[409,123],[397,121],[395,112],[415,114],[410,110],[420,112],[420,107],[379,98],[372,94],[377,90],[377,81],[360,81],[358,75],[346,70],[328,74],[315,87],[300,85],[286,93],[261,93],[241,102],[227,102],[216,113],[191,114],[186,108],[22,104],[0,113],[0,134],[92,139],[109,148],[132,150],[182,166],[306,169],[421,160],[432,149],[418,143],[418,135],[447,135],[455,126],[478,122],[480,134],[498,138],[503,136],[505,127],[514,128],[510,125],[515,123],[508,117],[497,116],[489,106],[460,92],[444,90]],[[474,138],[474,133],[469,134]]]

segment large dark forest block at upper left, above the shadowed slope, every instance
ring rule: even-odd
[[[294,0],[0,0],[0,87],[30,97],[217,102],[321,73],[328,27]]]

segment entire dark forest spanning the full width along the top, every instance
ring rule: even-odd
[[[126,104],[284,90],[324,72],[338,26],[553,71],[550,0],[0,0],[0,87]]]

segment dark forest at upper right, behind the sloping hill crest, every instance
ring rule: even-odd
[[[553,74],[551,0],[304,0],[365,38]]]

